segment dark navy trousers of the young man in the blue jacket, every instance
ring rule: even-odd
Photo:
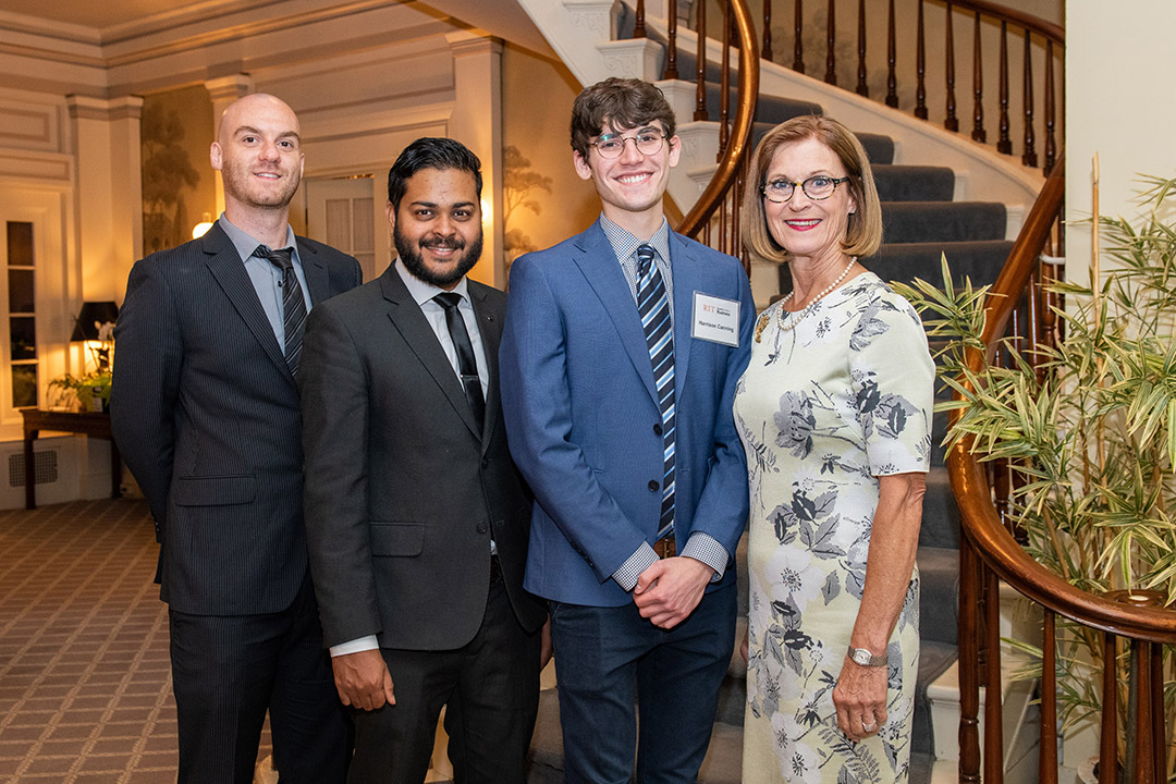
[[[735,644],[735,582],[668,631],[635,604],[552,602],[568,784],[694,782]],[[637,712],[640,712],[640,737]]]

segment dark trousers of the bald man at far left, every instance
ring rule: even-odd
[[[179,784],[250,784],[267,710],[282,784],[345,780],[347,713],[309,577],[282,612],[169,617]]]

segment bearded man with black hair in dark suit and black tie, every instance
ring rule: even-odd
[[[352,784],[425,780],[446,705],[454,780],[523,784],[544,605],[522,588],[528,495],[507,449],[506,295],[482,249],[477,158],[419,139],[388,173],[399,259],[310,315],[306,525]]]

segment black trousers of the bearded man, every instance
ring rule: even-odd
[[[443,601],[436,611],[445,612]],[[355,757],[347,780],[423,782],[446,705],[454,784],[522,784],[539,710],[539,632],[519,624],[497,581],[490,583],[482,626],[462,648],[381,649],[396,704],[354,712]]]

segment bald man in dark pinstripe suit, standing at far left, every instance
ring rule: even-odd
[[[289,227],[302,152],[286,103],[234,102],[211,159],[225,214],[131,270],[111,404],[160,542],[179,780],[252,782],[268,710],[283,784],[342,782],[347,725],[307,568],[295,374],[306,310],[361,273]]]

